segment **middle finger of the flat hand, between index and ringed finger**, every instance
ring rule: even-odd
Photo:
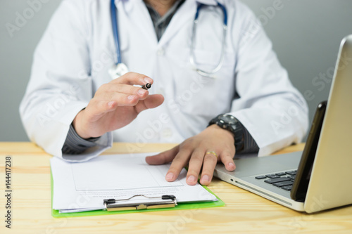
[[[186,182],[189,186],[194,186],[198,181],[199,171],[201,171],[201,166],[203,164],[205,150],[197,148],[191,155],[189,160],[189,166],[187,171]]]

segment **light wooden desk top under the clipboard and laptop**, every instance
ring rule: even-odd
[[[114,143],[104,154],[155,152],[173,144]],[[302,150],[294,145],[281,152]],[[11,155],[11,230],[6,228],[5,157]],[[352,233],[352,206],[319,214],[282,207],[214,179],[209,188],[225,207],[54,219],[50,155],[33,143],[0,143],[0,233]]]

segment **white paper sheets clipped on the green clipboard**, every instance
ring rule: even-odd
[[[188,186],[185,169],[176,181],[165,181],[170,164],[153,166],[145,162],[147,155],[155,154],[103,155],[82,163],[51,158],[53,209],[60,212],[105,209],[104,199],[120,200],[138,194],[148,197],[175,195],[177,202],[217,200],[199,183]],[[142,203],[146,200],[144,197],[134,197],[124,203]]]

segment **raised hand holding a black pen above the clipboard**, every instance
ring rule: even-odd
[[[153,84],[153,79],[128,72],[100,86],[87,108],[73,120],[77,134],[82,138],[102,136],[130,124],[139,112],[161,105],[164,101],[161,94],[149,95],[148,90],[133,86],[146,83]]]

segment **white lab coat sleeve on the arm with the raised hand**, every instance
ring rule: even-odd
[[[103,135],[80,155],[63,155],[71,122],[94,95],[89,62],[89,18],[84,1],[63,1],[34,52],[32,73],[20,104],[30,140],[46,152],[76,162],[96,157],[112,145]]]

